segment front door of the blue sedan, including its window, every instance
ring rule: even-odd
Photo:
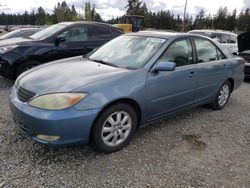
[[[197,84],[189,38],[174,41],[156,62],[175,62],[174,71],[150,72],[147,80],[148,117],[152,119],[192,105]]]

